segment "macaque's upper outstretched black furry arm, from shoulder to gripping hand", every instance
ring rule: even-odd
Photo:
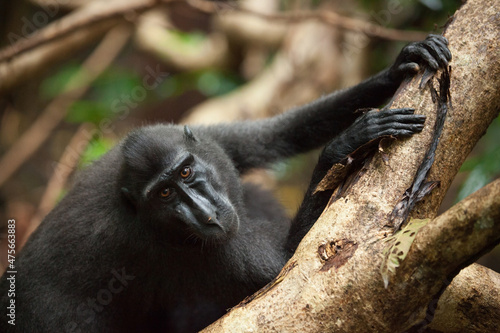
[[[358,109],[377,107],[420,68],[436,71],[451,54],[443,36],[430,35],[403,48],[395,63],[360,84],[269,119],[198,129],[213,137],[240,172],[315,149],[356,120]]]

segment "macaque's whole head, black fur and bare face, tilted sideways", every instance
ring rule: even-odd
[[[132,132],[121,149],[120,191],[144,228],[177,244],[217,244],[237,232],[240,180],[217,144],[157,125]]]

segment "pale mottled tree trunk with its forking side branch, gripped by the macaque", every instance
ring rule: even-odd
[[[413,209],[412,217],[429,222],[417,233],[387,288],[380,267],[388,247],[384,240],[393,232],[390,217],[411,187],[435,135],[437,106],[429,86],[420,89],[419,80],[399,92],[393,107],[414,107],[425,114],[424,131],[375,155],[351,186],[332,200],[266,292],[242,302],[205,332],[421,331],[434,315],[437,329],[452,332],[457,322],[446,323],[445,318],[453,318],[450,309],[459,311],[461,304],[474,309],[489,304],[492,312],[481,318],[485,321],[481,324],[500,327],[495,312],[498,297],[488,301],[485,294],[464,288],[463,283],[473,279],[476,286],[498,293],[496,273],[485,274],[484,268],[473,266],[450,284],[462,268],[500,242],[500,183],[488,185],[435,218],[460,165],[498,116],[499,27],[496,0],[469,0],[445,33],[453,54],[452,107],[426,177],[440,186]],[[433,86],[440,85],[436,78],[431,80]],[[436,311],[447,286],[439,303],[446,309],[438,306]],[[460,318],[459,330],[479,331],[470,317]]]

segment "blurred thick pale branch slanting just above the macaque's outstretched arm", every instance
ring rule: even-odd
[[[183,121],[208,124],[262,118],[310,102],[338,84],[340,69],[331,61],[341,57],[338,38],[337,31],[318,22],[295,25],[287,45],[258,76],[196,106]]]

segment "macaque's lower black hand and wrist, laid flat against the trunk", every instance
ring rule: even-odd
[[[371,110],[332,139],[323,150],[318,166],[325,172],[362,145],[383,136],[408,137],[424,128],[425,116],[415,109]]]

